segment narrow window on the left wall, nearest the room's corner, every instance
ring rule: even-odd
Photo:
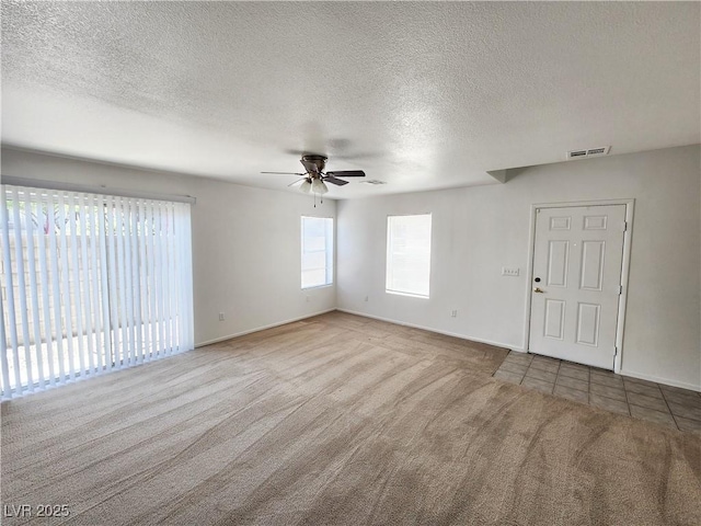
[[[333,283],[333,219],[302,216],[302,288]]]

